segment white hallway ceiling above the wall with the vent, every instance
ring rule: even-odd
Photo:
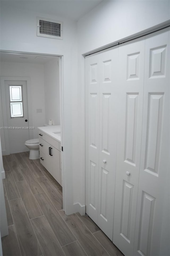
[[[18,9],[58,15],[78,21],[102,0],[1,0],[2,4]]]

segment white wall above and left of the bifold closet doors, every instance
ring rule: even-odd
[[[85,205],[85,77],[83,54],[170,19],[170,1],[103,1],[78,21],[78,143],[75,195]]]

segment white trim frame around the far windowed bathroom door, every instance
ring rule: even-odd
[[[33,126],[32,124],[32,104],[31,104],[31,80],[30,77],[1,77],[1,95],[2,97],[2,115],[3,115],[3,125],[7,127],[7,117],[6,113],[6,97],[5,97],[5,81],[25,81],[27,85],[27,105],[28,105],[28,120],[29,126]],[[33,130],[28,129],[29,131],[29,139],[33,138]],[[8,129],[4,129],[4,136],[5,136],[5,149],[3,153],[6,155],[10,154],[9,149],[9,138],[8,138]],[[5,152],[4,152],[5,151]]]

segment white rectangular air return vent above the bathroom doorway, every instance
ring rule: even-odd
[[[37,17],[37,36],[63,39],[63,23],[61,21]]]

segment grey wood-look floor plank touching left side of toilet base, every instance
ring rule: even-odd
[[[27,152],[22,152],[20,153],[20,155],[36,178],[44,176],[44,174],[41,172],[39,167],[34,163],[34,161],[32,159],[29,159],[29,155],[27,154]]]

